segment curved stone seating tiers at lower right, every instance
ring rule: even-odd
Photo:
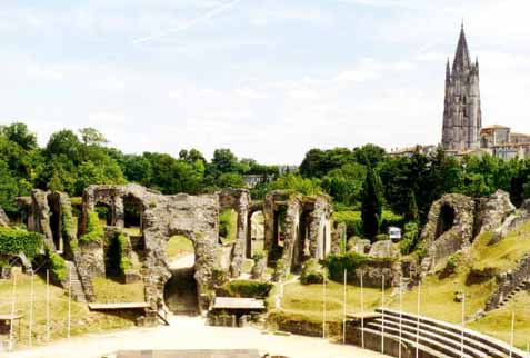
[[[503,341],[457,325],[389,309],[378,309],[373,319],[349,329],[349,340],[386,355],[402,358],[524,358],[526,352]],[[347,331],[348,332],[348,331]],[[417,356],[418,350],[418,356]]]

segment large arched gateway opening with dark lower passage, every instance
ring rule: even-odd
[[[166,253],[171,271],[171,278],[163,288],[166,306],[174,315],[197,315],[199,299],[193,242],[186,236],[173,236],[168,240]]]

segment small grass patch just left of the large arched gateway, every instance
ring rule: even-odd
[[[92,285],[96,300],[101,304],[146,301],[142,281],[120,284],[109,278],[94,278]]]

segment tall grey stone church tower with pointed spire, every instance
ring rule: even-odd
[[[462,24],[452,69],[449,59],[446,67],[443,149],[463,151],[480,148],[481,127],[479,61],[471,62]]]

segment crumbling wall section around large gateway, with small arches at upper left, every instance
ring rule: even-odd
[[[86,225],[88,213],[94,209],[97,202],[102,201],[114,212],[112,223],[122,228],[126,198],[131,198],[141,206],[143,238],[141,275],[146,298],[151,304],[151,312],[156,312],[158,302],[163,299],[164,284],[171,277],[166,247],[173,235],[186,236],[193,242],[198,294],[200,301],[208,305],[204,298],[212,288],[212,270],[217,268],[217,250],[220,247],[219,196],[163,196],[138,185],[90,186],[83,195],[82,222]]]

